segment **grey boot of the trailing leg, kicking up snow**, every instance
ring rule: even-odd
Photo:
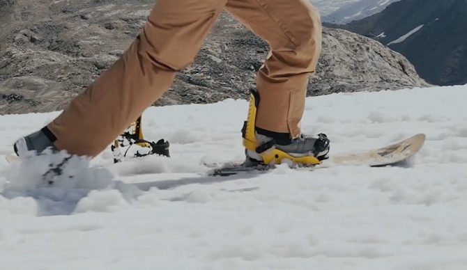
[[[54,134],[47,127],[43,127],[38,132],[19,138],[13,145],[13,150],[15,150],[18,157],[31,151],[40,154],[46,149],[59,152],[53,143],[55,140]]]

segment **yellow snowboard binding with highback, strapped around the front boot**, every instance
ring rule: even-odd
[[[259,143],[257,141],[255,123],[257,116],[257,107],[259,104],[259,94],[252,90],[250,94],[250,105],[248,108],[247,121],[244,122],[242,135],[243,135],[243,146],[246,150],[250,150],[259,154],[263,164],[273,165],[282,164],[282,161],[289,160],[294,164],[300,164],[304,166],[313,166],[321,164],[321,161],[312,155],[293,156],[283,150],[275,147],[275,141],[271,140],[266,143]],[[326,138],[327,139],[327,138]]]

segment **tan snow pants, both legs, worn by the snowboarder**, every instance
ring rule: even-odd
[[[158,0],[121,59],[47,126],[56,148],[102,152],[192,63],[224,9],[270,45],[257,75],[257,127],[298,136],[321,50],[319,13],[308,0]]]

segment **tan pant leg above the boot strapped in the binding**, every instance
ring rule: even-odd
[[[308,0],[229,0],[226,9],[271,48],[257,76],[257,127],[296,138],[321,51],[319,13]]]

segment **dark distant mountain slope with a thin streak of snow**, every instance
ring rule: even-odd
[[[338,26],[370,36],[406,56],[431,84],[467,83],[467,1],[402,0]]]

